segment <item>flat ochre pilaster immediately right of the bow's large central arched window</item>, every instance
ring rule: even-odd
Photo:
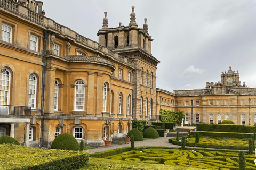
[[[87,95],[87,115],[88,117],[94,116],[94,73],[88,72],[88,95]]]

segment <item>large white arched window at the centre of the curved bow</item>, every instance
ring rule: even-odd
[[[75,111],[84,110],[84,82],[78,80],[75,87]]]

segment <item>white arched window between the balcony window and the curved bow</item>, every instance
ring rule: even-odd
[[[29,75],[28,85],[28,106],[36,108],[36,76],[34,74]]]

